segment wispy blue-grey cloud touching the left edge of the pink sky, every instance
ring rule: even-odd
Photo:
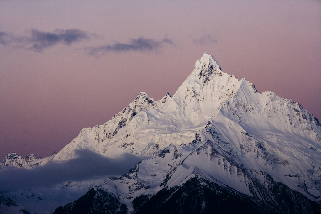
[[[13,44],[14,47],[21,47],[35,52],[42,52],[44,49],[57,44],[71,45],[72,43],[89,39],[90,36],[85,31],[78,29],[56,29],[53,32],[31,29],[30,35],[20,37],[0,31],[0,44]]]

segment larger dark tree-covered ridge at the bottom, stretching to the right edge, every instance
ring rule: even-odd
[[[286,185],[269,184],[268,194],[274,201],[260,200],[240,193],[228,186],[221,186],[194,177],[182,186],[162,189],[152,197],[140,195],[133,200],[135,214],[150,213],[316,213],[321,206]],[[146,201],[147,198],[150,198]]]

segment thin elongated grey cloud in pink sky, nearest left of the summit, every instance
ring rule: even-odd
[[[173,41],[166,37],[160,41],[140,37],[138,39],[131,39],[129,43],[116,42],[113,45],[105,44],[99,47],[87,47],[86,50],[89,55],[95,56],[107,52],[159,51],[164,43],[174,45]]]

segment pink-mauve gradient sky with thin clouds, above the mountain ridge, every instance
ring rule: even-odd
[[[321,120],[321,1],[0,1],[0,159],[173,95],[205,51]]]

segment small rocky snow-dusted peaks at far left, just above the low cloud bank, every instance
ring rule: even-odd
[[[7,154],[7,156],[2,160],[0,163],[0,169],[4,169],[6,167],[12,166],[12,167],[24,167],[28,165],[29,163],[41,159],[40,157],[36,157],[33,154],[30,154],[30,156],[26,156],[26,158],[22,158],[20,155],[18,155],[15,152]]]

